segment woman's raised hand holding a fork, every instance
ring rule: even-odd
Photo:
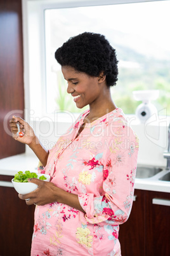
[[[20,125],[20,131],[24,133],[23,137],[19,137],[18,135],[16,135],[16,133],[18,132],[18,128],[16,125],[17,122]],[[13,138],[16,139],[16,141],[20,141],[21,143],[30,145],[32,141],[36,140],[34,130],[22,118],[13,116],[13,118],[11,118],[10,120],[10,127],[11,132],[13,133]]]

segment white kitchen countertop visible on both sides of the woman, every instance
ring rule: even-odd
[[[0,175],[14,176],[18,171],[36,171],[39,160],[36,155],[22,153],[0,160]],[[159,192],[170,192],[170,181],[161,181],[159,177],[166,174],[164,169],[151,178],[136,178],[134,188],[142,190],[152,190]],[[0,186],[13,187],[9,181],[0,181]]]

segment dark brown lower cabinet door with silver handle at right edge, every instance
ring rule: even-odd
[[[146,192],[146,255],[170,255],[170,194]]]

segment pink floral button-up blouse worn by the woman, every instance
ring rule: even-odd
[[[120,108],[86,124],[84,111],[50,150],[42,173],[77,194],[86,214],[66,204],[36,206],[32,256],[121,255],[119,225],[133,203],[138,138]]]

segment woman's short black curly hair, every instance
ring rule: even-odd
[[[70,66],[89,76],[99,76],[103,72],[108,87],[117,82],[115,49],[101,34],[84,32],[70,38],[56,50],[55,59],[61,66]]]

